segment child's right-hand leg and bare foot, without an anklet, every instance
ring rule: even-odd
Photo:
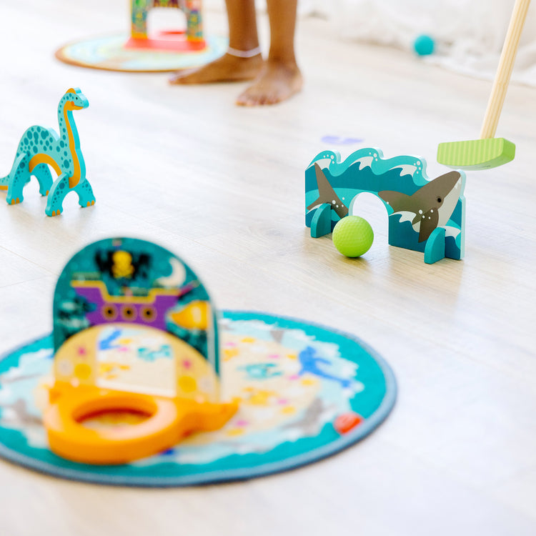
[[[237,104],[275,104],[302,89],[302,74],[294,56],[297,4],[297,0],[267,0],[271,32],[268,60]]]

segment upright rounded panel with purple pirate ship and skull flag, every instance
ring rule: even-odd
[[[104,239],[76,253],[53,318],[56,379],[218,397],[215,308],[194,271],[157,244]]]

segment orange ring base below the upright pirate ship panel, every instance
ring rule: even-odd
[[[84,417],[106,411],[134,411],[147,420],[125,427],[91,430]],[[49,445],[74,462],[116,465],[155,455],[195,430],[217,430],[237,411],[237,404],[197,403],[134,392],[77,387],[60,395],[44,413]]]

